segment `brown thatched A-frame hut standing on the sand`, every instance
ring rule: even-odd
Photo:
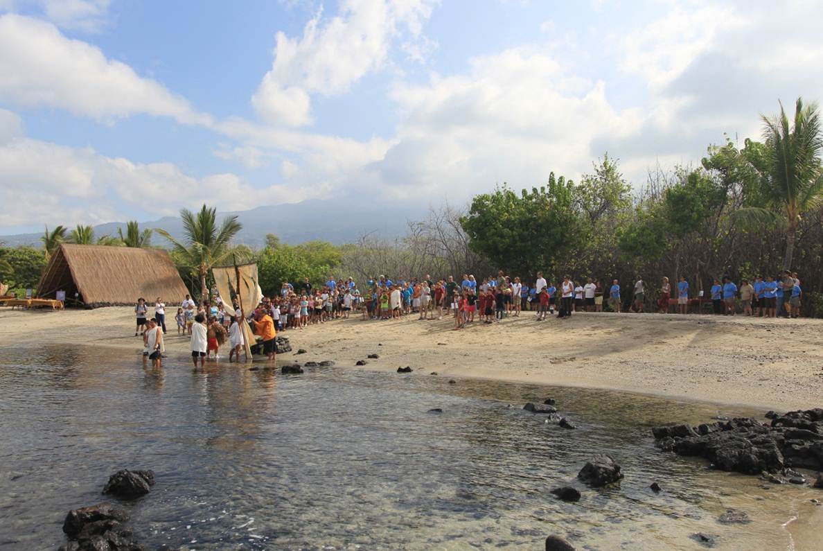
[[[58,291],[67,300],[78,292],[87,306],[131,305],[139,297],[150,304],[157,297],[182,301],[188,293],[165,250],[66,243],[52,254],[37,286],[40,297]]]

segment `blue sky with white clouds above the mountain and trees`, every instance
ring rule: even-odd
[[[639,188],[820,99],[820,21],[757,0],[0,0],[0,234],[459,205],[606,152]]]

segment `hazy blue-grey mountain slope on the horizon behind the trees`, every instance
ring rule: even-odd
[[[237,215],[243,224],[235,241],[246,245],[263,246],[266,234],[273,233],[284,243],[295,245],[309,240],[326,240],[334,244],[351,243],[367,232],[389,238],[406,234],[407,221],[425,217],[424,208],[387,207],[382,201],[352,199],[309,199],[301,203],[258,207],[248,211],[218,212],[217,220]],[[73,227],[73,226],[70,226]],[[141,228],[159,227],[175,239],[182,238],[183,224],[179,217],[163,217],[152,222],[140,222]],[[117,235],[118,228],[126,229],[125,222],[107,222],[95,226],[95,236]],[[23,233],[0,236],[7,246],[40,246],[42,233]],[[152,237],[152,245],[167,243],[160,236]]]

